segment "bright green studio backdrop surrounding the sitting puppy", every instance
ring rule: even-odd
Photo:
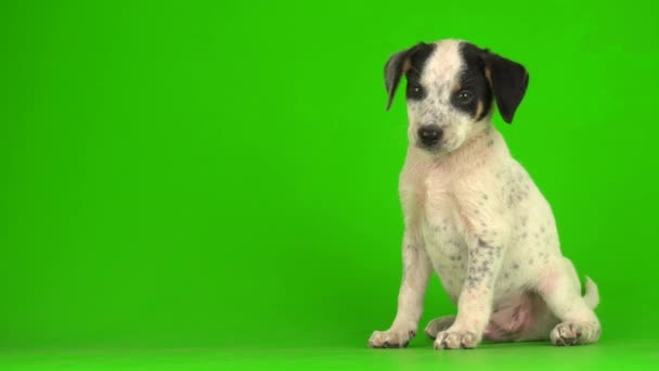
[[[0,368],[659,363],[649,3],[3,3]],[[495,126],[599,285],[595,346],[365,348],[401,273],[406,117],[384,64],[450,37],[530,72]],[[434,280],[423,324],[454,310]]]

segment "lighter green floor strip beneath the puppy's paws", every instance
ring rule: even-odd
[[[486,344],[476,350],[434,351],[430,343],[406,349],[163,348],[3,349],[0,370],[658,370],[659,342],[605,340],[556,348],[543,343]]]

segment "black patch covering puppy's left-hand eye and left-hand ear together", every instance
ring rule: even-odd
[[[395,53],[385,64],[385,87],[387,88],[387,110],[393,102],[393,95],[403,74],[408,77],[408,99],[421,100],[425,98],[425,89],[421,86],[419,78],[428,56],[435,51],[434,43],[419,42],[416,46]]]

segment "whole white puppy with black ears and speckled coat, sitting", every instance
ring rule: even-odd
[[[529,75],[518,63],[460,41],[419,43],[385,66],[391,105],[408,80],[408,139],[400,175],[404,213],[403,278],[398,312],[371,347],[404,347],[416,334],[431,271],[457,305],[455,317],[426,327],[436,349],[489,341],[596,342],[595,283],[586,293],[560,253],[552,209],[492,126],[506,123]]]

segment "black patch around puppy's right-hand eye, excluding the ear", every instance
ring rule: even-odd
[[[475,120],[486,117],[492,108],[492,89],[486,78],[486,63],[483,51],[476,46],[463,42],[460,53],[464,61],[464,68],[460,75],[460,89],[451,94],[451,104],[456,108],[468,113]],[[467,90],[474,94],[468,103],[462,103],[458,99],[461,91]],[[478,114],[478,105],[482,104],[482,111]]]

